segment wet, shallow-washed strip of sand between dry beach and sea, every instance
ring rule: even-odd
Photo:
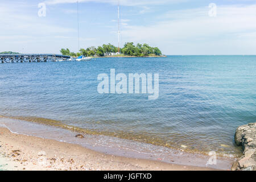
[[[201,152],[187,152],[185,148],[175,150],[169,147],[156,146],[154,144],[137,142],[129,139],[110,137],[107,135],[95,135],[74,131],[72,127],[49,126],[48,123],[36,123],[24,121],[21,118],[1,118],[0,127],[9,129],[14,134],[21,134],[44,139],[53,139],[59,142],[79,144],[84,148],[104,154],[121,156],[125,158],[138,158],[154,160],[168,164],[177,164],[196,167],[210,167],[220,170],[229,170],[236,158],[217,155],[216,164],[208,165],[209,154]],[[82,134],[84,138],[76,138]],[[1,136],[0,136],[1,137]]]

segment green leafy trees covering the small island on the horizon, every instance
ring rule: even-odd
[[[125,43],[125,46],[123,48],[120,48],[120,53],[122,55],[127,55],[127,56],[150,56],[150,55],[156,55],[160,56],[162,55],[162,52],[158,47],[150,47],[148,44],[137,44],[136,46],[134,45],[133,42],[130,43]],[[113,46],[112,44],[103,44],[102,46],[98,46],[98,48],[92,46],[88,47],[86,49],[82,48],[79,50],[79,52],[70,52],[69,49],[64,49],[62,48],[60,50],[61,54],[67,55],[67,56],[110,56],[110,55],[115,55],[115,53],[118,52],[118,48]]]

